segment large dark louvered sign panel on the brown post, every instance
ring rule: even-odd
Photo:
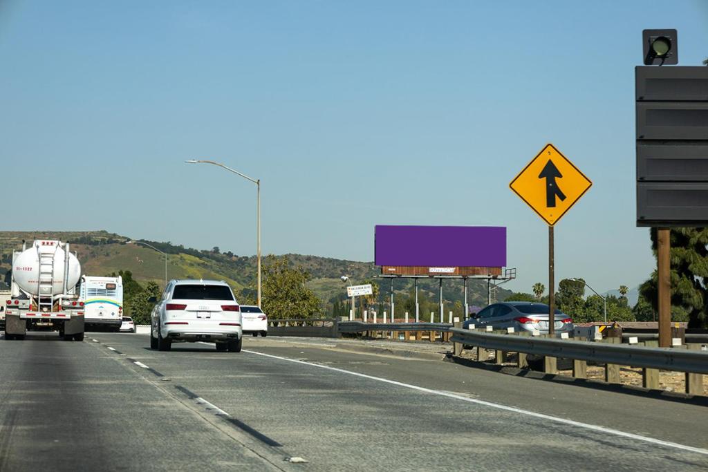
[[[636,68],[636,224],[708,225],[708,67]]]

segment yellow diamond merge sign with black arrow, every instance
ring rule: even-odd
[[[550,226],[558,222],[593,185],[553,144],[511,181],[509,187]]]

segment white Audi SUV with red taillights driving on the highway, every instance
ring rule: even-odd
[[[217,351],[240,352],[241,309],[226,282],[171,280],[150,315],[150,347],[207,341]]]

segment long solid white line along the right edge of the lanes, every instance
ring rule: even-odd
[[[274,356],[274,355],[270,355],[270,354],[264,354],[263,352],[250,351],[250,350],[245,350],[245,349],[244,349],[244,352],[249,352],[251,354],[256,354],[256,355],[264,356],[264,357],[272,357],[273,359],[280,359],[280,360],[284,360],[284,361],[288,361],[288,362],[295,362],[297,364],[305,364],[305,365],[309,365],[312,367],[319,367],[320,369],[332,370],[334,372],[341,372],[343,374],[350,374],[350,375],[362,377],[364,379],[371,379],[371,380],[376,380],[379,382],[384,382],[385,384],[391,384],[391,385],[396,385],[396,386],[400,386],[400,387],[411,388],[413,390],[417,390],[417,391],[421,391],[421,392],[425,392],[425,393],[432,393],[433,395],[445,396],[447,398],[455,398],[455,400],[462,400],[462,401],[466,401],[468,403],[476,403],[478,405],[489,406],[491,408],[497,408],[498,410],[505,410],[505,411],[510,411],[512,413],[519,413],[520,415],[527,415],[527,416],[532,416],[534,418],[541,418],[542,420],[550,420],[550,421],[554,421],[554,422],[559,422],[564,425],[581,427],[586,430],[603,432],[605,434],[614,434],[615,436],[626,437],[629,439],[635,439],[637,441],[648,442],[650,444],[658,444],[659,446],[672,447],[674,449],[681,449],[683,451],[691,451],[691,452],[696,452],[697,454],[708,455],[708,449],[687,446],[685,444],[678,444],[678,442],[663,441],[661,439],[656,439],[653,437],[641,436],[641,434],[633,434],[631,432],[613,430],[610,427],[599,426],[599,425],[590,425],[589,423],[583,423],[583,422],[579,422],[579,421],[575,421],[575,420],[568,420],[566,418],[559,418],[557,416],[544,415],[543,413],[536,413],[534,411],[523,410],[521,408],[515,408],[513,406],[501,405],[499,403],[492,403],[491,401],[477,400],[476,398],[469,398],[466,396],[456,395],[455,393],[433,390],[431,388],[420,387],[417,385],[404,384],[403,382],[389,380],[389,379],[383,379],[382,377],[376,377],[376,376],[367,375],[367,374],[360,374],[358,372],[351,372],[349,370],[338,369],[337,367],[330,367],[330,366],[320,365],[320,364],[312,364],[312,362],[304,362],[304,361],[301,361],[298,359],[288,359],[287,357]]]

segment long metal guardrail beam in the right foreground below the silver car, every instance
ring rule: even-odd
[[[549,357],[619,364],[646,369],[664,369],[692,374],[708,374],[708,352],[669,347],[635,347],[622,344],[515,335],[480,333],[450,328],[453,343],[462,343],[505,352],[524,352]]]

